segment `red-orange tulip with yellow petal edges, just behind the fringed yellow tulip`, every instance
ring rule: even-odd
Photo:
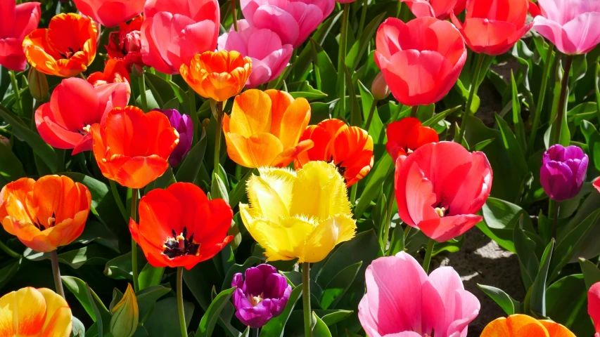
[[[298,153],[295,169],[309,161],[331,161],[343,176],[346,186],[350,187],[373,167],[373,138],[358,126],[347,126],[339,119],[326,119],[306,128],[300,142],[307,140],[312,140],[314,146]]]

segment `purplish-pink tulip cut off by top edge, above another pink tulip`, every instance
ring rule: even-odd
[[[251,26],[268,28],[282,44],[300,46],[336,6],[335,0],[241,0]]]

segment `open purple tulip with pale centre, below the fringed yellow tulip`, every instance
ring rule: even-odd
[[[231,286],[237,286],[234,292],[236,317],[253,329],[260,328],[269,319],[281,315],[292,292],[286,277],[267,264],[248,268],[245,280],[238,272],[234,275]]]

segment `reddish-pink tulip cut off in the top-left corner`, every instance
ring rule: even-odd
[[[37,28],[42,11],[39,2],[15,3],[15,0],[0,0],[0,65],[22,72],[27,67],[23,39]]]

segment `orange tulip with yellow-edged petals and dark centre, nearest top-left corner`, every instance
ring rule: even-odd
[[[89,18],[62,13],[48,28],[35,29],[25,40],[27,62],[44,74],[74,77],[87,70],[96,57],[98,29]]]

